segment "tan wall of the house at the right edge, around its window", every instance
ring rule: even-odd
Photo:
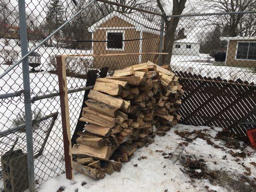
[[[229,66],[244,66],[244,67],[256,67],[256,60],[237,60],[237,43],[238,42],[256,42],[256,40],[230,40],[227,49],[226,65]]]

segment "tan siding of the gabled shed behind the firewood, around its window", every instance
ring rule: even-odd
[[[98,28],[93,32],[93,40],[95,41],[105,41],[106,32],[111,30],[124,31],[124,39],[140,39],[140,31],[133,29],[134,25],[130,24],[119,17],[113,17],[105,23],[98,26]],[[118,29],[115,29],[116,27]],[[123,28],[122,27],[126,27]],[[127,27],[131,27],[128,28]],[[105,29],[106,28],[106,29]],[[113,28],[113,29],[111,29]],[[159,49],[159,36],[157,38],[156,34],[150,34],[143,32],[142,37],[148,38],[142,40],[142,52],[158,52]],[[124,41],[124,50],[106,50],[107,42],[94,42],[93,43],[93,53],[94,54],[118,54],[118,53],[139,53],[140,52],[140,40],[134,41]],[[158,55],[142,55],[142,62],[148,60],[156,62]],[[109,67],[110,70],[121,69],[127,66],[131,66],[139,63],[139,55],[128,55],[128,56],[105,56],[105,57],[94,57],[93,65],[95,68]]]

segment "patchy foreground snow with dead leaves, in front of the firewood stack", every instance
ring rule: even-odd
[[[62,187],[64,192],[125,192],[128,190],[135,192],[167,192],[167,190],[168,192],[236,191],[228,185],[225,186],[223,183],[218,185],[205,178],[192,179],[184,172],[184,167],[179,160],[173,164],[169,158],[164,158],[162,156],[163,152],[166,154],[172,153],[179,143],[184,142],[181,136],[174,133],[175,130],[179,132],[206,130],[203,132],[209,133],[214,144],[221,147],[215,148],[213,145],[207,144],[206,140],[197,138],[185,147],[182,156],[195,156],[196,159],[204,159],[208,171],[225,172],[232,178],[235,178],[236,175],[244,175],[245,167],[251,169],[251,175],[245,176],[248,180],[253,180],[256,177],[256,167],[250,164],[256,162],[256,151],[251,147],[244,150],[246,154],[251,154],[250,156],[246,156],[246,158],[233,157],[229,153],[231,149],[225,146],[224,141],[213,139],[217,132],[221,131],[221,128],[211,129],[204,126],[195,127],[178,124],[171,128],[167,135],[156,136],[153,144],[139,148],[129,162],[122,164],[121,172],[106,175],[103,180],[93,180],[75,171],[74,180],[71,181],[65,179],[65,174],[61,174],[43,183],[37,190],[38,192],[57,192]],[[240,152],[239,149],[232,150]],[[139,160],[141,156],[146,156],[146,158]],[[226,157],[223,158],[223,156]],[[238,162],[235,161],[237,158],[239,159]],[[137,167],[134,165],[137,165]],[[198,174],[202,171],[200,169],[195,170]]]

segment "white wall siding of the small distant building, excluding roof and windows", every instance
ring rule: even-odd
[[[176,45],[179,45],[180,48],[176,48]],[[191,48],[187,48],[187,46],[189,46],[189,45],[191,46]],[[199,43],[174,42],[173,48],[172,48],[172,54],[198,56],[199,49],[200,49]]]

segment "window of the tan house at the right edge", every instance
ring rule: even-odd
[[[237,45],[236,59],[256,60],[256,43],[239,42]]]

